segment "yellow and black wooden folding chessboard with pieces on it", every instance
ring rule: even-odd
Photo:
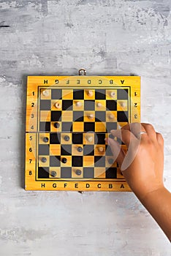
[[[25,189],[131,191],[104,139],[137,121],[140,77],[29,76]]]

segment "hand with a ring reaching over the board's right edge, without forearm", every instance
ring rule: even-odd
[[[142,135],[140,132],[143,131]],[[107,143],[126,178],[129,187],[139,198],[145,197],[163,184],[164,140],[151,124],[132,123],[111,134],[126,144],[128,151],[111,138]]]

